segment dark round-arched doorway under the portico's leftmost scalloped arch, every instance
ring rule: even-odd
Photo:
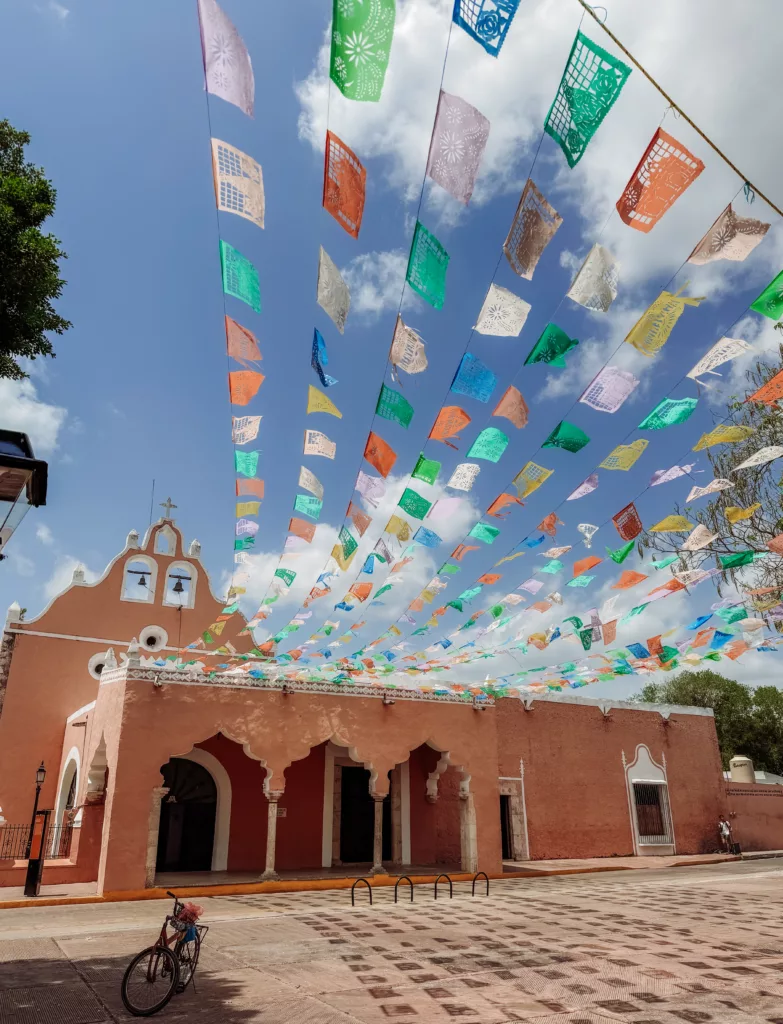
[[[215,841],[217,786],[202,765],[172,758],[161,768],[168,794],[161,804],[159,871],[209,871]]]

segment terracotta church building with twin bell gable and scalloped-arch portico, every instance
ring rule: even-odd
[[[43,882],[104,894],[717,849],[710,711],[255,679],[205,651],[183,667],[222,607],[200,551],[166,517],[95,583],[77,569],[36,617],[9,609],[0,885],[24,882],[42,762]],[[238,652],[244,625],[221,637]]]

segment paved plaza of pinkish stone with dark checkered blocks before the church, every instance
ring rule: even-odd
[[[402,887],[400,887],[402,891]],[[783,860],[201,899],[204,1024],[783,1024]],[[366,897],[364,897],[364,900]],[[161,901],[0,911],[0,1022],[129,1021],[120,981]]]

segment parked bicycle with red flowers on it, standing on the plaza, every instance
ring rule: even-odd
[[[137,953],[123,976],[122,999],[134,1017],[151,1017],[175,992],[184,992],[193,981],[202,941],[209,931],[195,923],[201,907],[180,903],[168,890],[166,894],[174,900],[173,911],[166,914],[157,942]]]

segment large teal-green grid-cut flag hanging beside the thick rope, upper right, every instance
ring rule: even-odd
[[[543,125],[547,134],[565,154],[569,167],[583,157],[629,74],[627,65],[581,32],[576,33],[560,88]]]

